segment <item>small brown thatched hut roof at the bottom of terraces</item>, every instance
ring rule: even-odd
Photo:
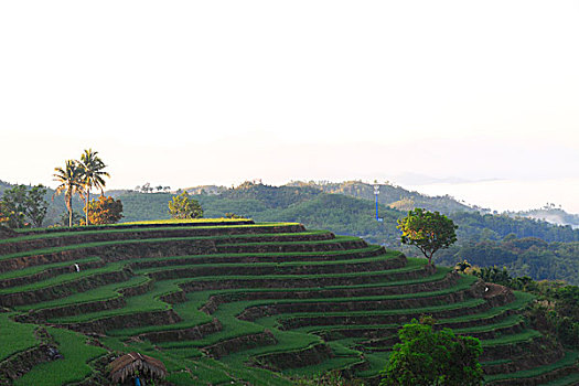
[[[135,352],[119,356],[109,366],[110,378],[115,383],[124,383],[132,378],[137,371],[139,375],[150,378],[159,379],[167,376],[167,368],[161,361]]]

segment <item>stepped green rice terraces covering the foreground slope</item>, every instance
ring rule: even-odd
[[[205,219],[0,238],[0,385],[110,385],[130,352],[162,361],[167,385],[332,369],[375,385],[397,329],[423,314],[481,339],[489,385],[579,383],[578,353],[525,325],[530,294],[355,237]]]

